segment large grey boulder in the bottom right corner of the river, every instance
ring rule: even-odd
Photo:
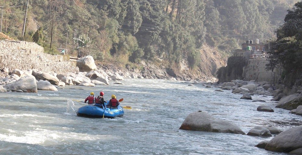
[[[299,148],[302,148],[302,125],[276,135],[266,145],[265,150],[290,152]]]

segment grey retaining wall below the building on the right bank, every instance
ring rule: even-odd
[[[266,60],[266,58],[249,59],[248,65],[243,68],[244,80],[267,81],[272,84],[278,83],[281,70],[274,69],[273,71],[267,71],[265,66],[266,64],[268,64],[268,60]]]

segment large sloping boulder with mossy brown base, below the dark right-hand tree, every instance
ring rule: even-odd
[[[300,106],[301,104],[302,104],[302,93],[300,94],[296,93],[280,99],[276,108],[293,110],[293,109],[297,109],[297,107]]]

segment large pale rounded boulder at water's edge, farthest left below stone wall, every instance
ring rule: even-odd
[[[13,83],[4,85],[4,88],[11,91],[22,90],[23,92],[37,93],[36,80],[31,76],[22,77]]]

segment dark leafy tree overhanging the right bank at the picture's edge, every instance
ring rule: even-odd
[[[302,71],[302,2],[294,5],[277,30],[277,39],[268,51],[268,69],[281,65],[284,69],[282,80],[287,86],[301,85]]]

